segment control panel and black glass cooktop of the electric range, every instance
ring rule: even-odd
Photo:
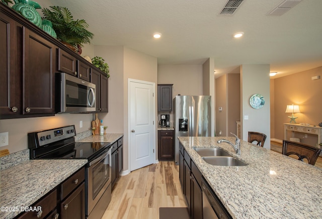
[[[28,133],[30,159],[93,160],[111,147],[110,142],[75,142],[75,126]]]

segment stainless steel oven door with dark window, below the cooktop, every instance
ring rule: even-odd
[[[111,152],[112,148],[89,163],[87,215],[91,213],[111,183]]]

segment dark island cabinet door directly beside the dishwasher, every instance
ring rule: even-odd
[[[191,174],[191,218],[203,218],[202,190],[193,174]]]

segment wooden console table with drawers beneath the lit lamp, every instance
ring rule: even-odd
[[[294,137],[294,131],[316,134],[317,144],[320,144],[322,142],[322,127],[319,126],[284,123],[284,139],[286,140],[288,140],[287,131],[292,131],[292,137]]]

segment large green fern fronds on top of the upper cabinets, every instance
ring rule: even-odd
[[[67,8],[50,6],[50,9],[43,9],[43,19],[51,21],[57,39],[63,44],[70,44],[74,48],[83,47],[83,44],[90,43],[94,34],[87,30],[89,25],[85,20],[74,20]],[[80,53],[79,53],[80,54]]]

